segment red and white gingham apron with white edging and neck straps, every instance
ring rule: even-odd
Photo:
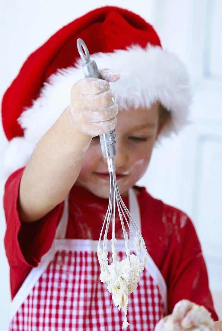
[[[10,331],[122,329],[122,309],[118,311],[114,306],[107,284],[100,281],[98,241],[64,239],[69,215],[68,199],[52,247],[37,268],[30,271],[12,301]],[[139,204],[133,189],[129,189],[129,210],[141,228]],[[130,251],[134,252],[131,238],[129,245]],[[125,258],[124,240],[117,240],[116,250],[120,260]],[[138,287],[129,295],[127,320],[130,325],[127,330],[152,331],[166,313],[166,283],[148,255]]]

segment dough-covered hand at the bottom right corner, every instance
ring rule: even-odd
[[[198,306],[189,300],[178,302],[171,315],[162,318],[155,331],[209,331],[213,329],[213,319],[210,312],[203,306]]]

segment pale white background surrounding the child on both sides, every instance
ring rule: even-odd
[[[165,139],[153,152],[139,181],[151,194],[184,210],[199,234],[210,285],[222,318],[222,30],[220,0],[86,1],[1,0],[0,95],[28,55],[53,33],[87,11],[105,5],[129,9],[154,25],[162,45],[186,64],[195,92],[192,124],[178,137]],[[0,153],[7,140],[0,127]],[[2,158],[0,158],[1,166]],[[1,180],[1,201],[4,179]],[[7,330],[10,304],[9,268],[0,206],[0,325]]]

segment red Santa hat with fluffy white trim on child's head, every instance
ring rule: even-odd
[[[2,121],[10,140],[5,174],[25,166],[38,140],[70,104],[72,85],[83,78],[76,40],[82,38],[99,69],[120,73],[111,84],[119,108],[149,108],[160,101],[171,112],[161,136],[187,122],[189,76],[172,53],[163,50],[153,27],[118,7],[102,7],[56,32],[32,53],[2,101]]]

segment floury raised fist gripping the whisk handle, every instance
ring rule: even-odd
[[[118,105],[109,82],[120,78],[110,69],[100,70],[100,78],[78,80],[71,90],[71,110],[78,129],[88,135],[98,136],[116,126]]]

